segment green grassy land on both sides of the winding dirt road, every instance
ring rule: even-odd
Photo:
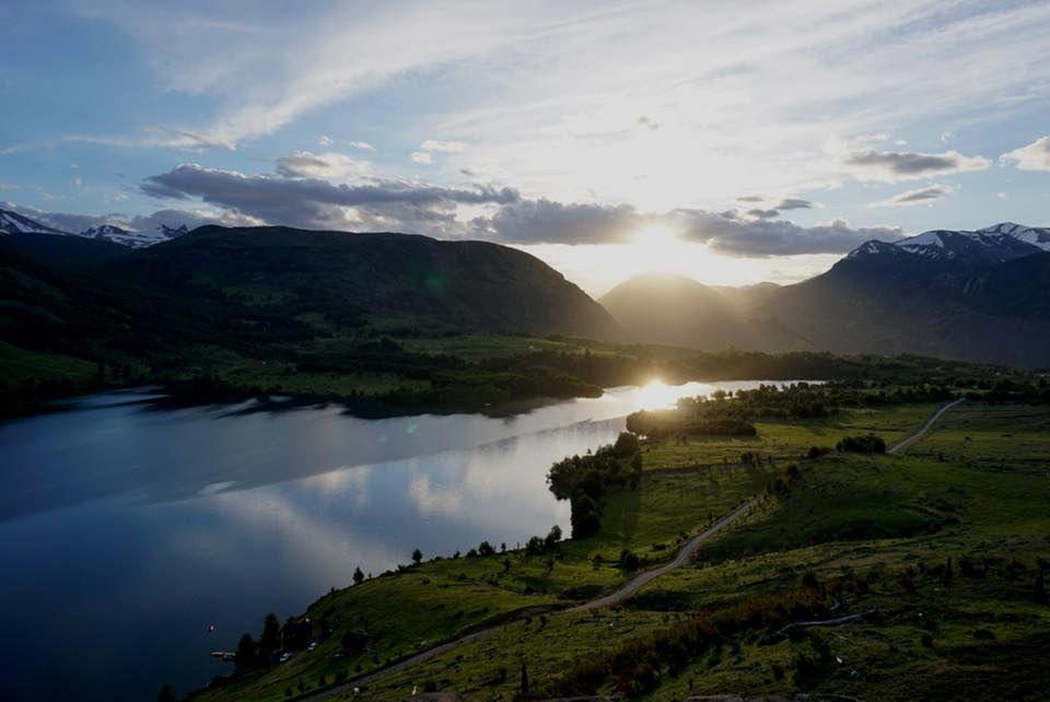
[[[656,657],[640,660],[655,676],[642,688],[629,672],[575,690],[628,690],[654,701],[800,690],[884,700],[1040,699],[1050,683],[1050,606],[1037,601],[1035,582],[1040,559],[1050,560],[1050,410],[967,405],[906,455],[798,459],[808,446],[830,446],[848,433],[874,431],[891,443],[934,408],[763,422],[750,443],[650,443],[640,489],[606,495],[597,535],[564,541],[553,553],[424,562],[335,592],[308,611],[336,632],[316,651],[201,699],[293,698],[300,682],[307,690],[354,678],[501,620],[508,623],[479,640],[381,677],[363,695],[336,699],[439,689],[511,700],[523,665],[532,693],[542,695],[569,689],[581,664],[657,645],[698,617],[728,617],[748,602],[798,592],[819,600],[818,618],[873,613],[783,635],[783,621],[748,624],[674,668]],[[676,469],[740,451],[775,460]],[[643,568],[670,558],[682,539],[762,492],[790,463],[801,466],[791,489],[701,548],[690,566],[623,606],[564,611],[630,576],[617,563],[621,549],[639,554]],[[375,632],[375,647],[334,659],[345,630]]]

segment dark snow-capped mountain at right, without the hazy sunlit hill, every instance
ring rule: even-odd
[[[814,350],[1050,365],[1047,232],[1003,223],[867,242],[752,312]]]

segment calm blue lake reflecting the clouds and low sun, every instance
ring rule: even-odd
[[[616,388],[499,419],[162,410],[113,393],[0,423],[0,697],[185,693],[229,672],[210,651],[357,566],[568,533],[552,461],[612,441],[639,408],[757,384]]]

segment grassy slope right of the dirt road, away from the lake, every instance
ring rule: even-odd
[[[1050,607],[1032,601],[1032,578],[1036,558],[1050,555],[1050,480],[1032,466],[1050,451],[1050,436],[1039,433],[1048,419],[1046,408],[962,408],[908,456],[809,463],[789,498],[725,533],[697,568],[655,581],[628,607],[512,624],[389,676],[369,697],[401,697],[432,681],[476,699],[510,699],[522,660],[535,686],[578,657],[658,632],[689,612],[797,587],[813,570],[821,581],[874,573],[871,590],[844,598],[842,611],[879,608],[884,615],[818,633],[843,663],[827,665],[807,688],[864,699],[1039,699],[1048,682]],[[956,446],[960,431],[971,436],[966,463],[937,460],[936,452]],[[873,523],[884,514],[892,515],[889,523]],[[873,524],[891,530],[931,519],[940,528],[929,534],[866,534]],[[734,550],[751,555],[722,560]],[[900,585],[903,569],[932,569],[948,557],[956,563],[950,584],[915,570],[914,592]],[[962,558],[983,574],[962,575]],[[1025,570],[1011,575],[1010,559]],[[739,636],[665,677],[648,697],[791,692],[793,660],[812,646],[808,636],[777,643]]]

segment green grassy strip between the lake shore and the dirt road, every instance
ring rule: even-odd
[[[719,477],[646,476],[640,491],[609,495],[602,534],[564,542],[553,560],[523,551],[435,560],[337,590],[307,611],[314,621],[332,624],[336,633],[325,644],[200,699],[281,700],[285,688],[294,689],[300,679],[315,688],[322,675],[331,681],[339,671],[351,677],[368,672],[506,612],[545,605],[564,608],[590,599],[630,575],[616,564],[621,549],[643,560],[667,559],[681,535],[699,531],[708,515],[724,514],[760,490],[771,470],[775,468],[731,466],[720,469]],[[600,563],[595,555],[602,557]],[[363,629],[380,634],[375,655],[331,658],[343,631]]]

